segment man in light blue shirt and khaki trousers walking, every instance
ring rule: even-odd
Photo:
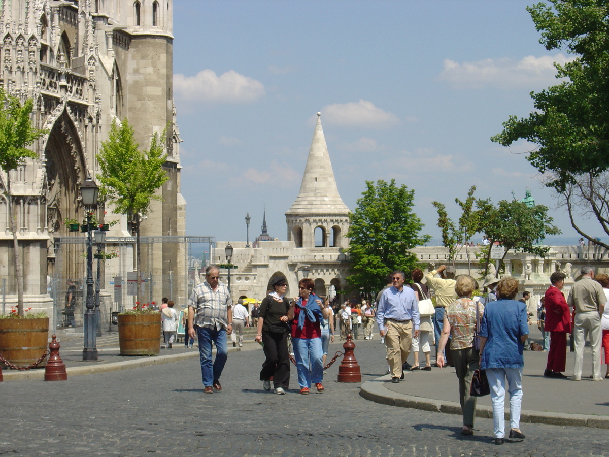
[[[393,285],[385,289],[376,310],[376,324],[381,338],[385,338],[387,359],[392,383],[403,379],[402,364],[410,353],[412,336],[418,336],[419,313],[415,292],[404,287],[406,274],[396,270],[392,273]]]

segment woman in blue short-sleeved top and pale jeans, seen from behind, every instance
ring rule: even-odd
[[[487,303],[480,330],[480,367],[486,370],[491,388],[495,444],[505,438],[505,381],[510,393],[510,436],[524,439],[520,431],[523,401],[524,342],[529,337],[526,303],[514,300],[518,281],[503,278],[497,285],[496,302]]]

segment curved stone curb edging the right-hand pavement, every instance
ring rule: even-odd
[[[421,409],[433,413],[462,414],[461,405],[446,400],[426,399],[414,395],[400,394],[390,391],[384,386],[385,381],[390,380],[389,375],[367,381],[362,384],[359,395],[371,402],[382,405],[399,406],[401,408]],[[493,419],[493,409],[489,406],[477,406],[476,417]],[[509,413],[505,413],[505,419],[509,420]],[[586,414],[551,413],[549,411],[527,411],[523,409],[520,413],[520,422],[545,423],[547,425],[567,425],[569,427],[594,427],[608,428],[609,416],[589,416]]]

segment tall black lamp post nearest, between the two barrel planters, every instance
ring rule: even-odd
[[[93,302],[93,234],[91,233],[91,213],[93,207],[97,205],[97,194],[99,187],[87,178],[80,185],[80,196],[85,205],[86,214],[86,311],[83,322],[85,335],[85,347],[82,350],[82,360],[97,360],[96,332],[95,332],[95,311]]]

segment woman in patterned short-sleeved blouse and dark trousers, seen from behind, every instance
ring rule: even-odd
[[[463,410],[463,430],[461,434],[474,434],[474,417],[476,417],[476,397],[470,396],[471,378],[474,370],[479,368],[479,355],[474,347],[476,331],[476,302],[471,299],[476,288],[476,280],[470,275],[457,277],[455,292],[457,300],[446,306],[444,328],[438,349],[438,366],[445,366],[444,347],[448,336],[451,336],[452,363],[459,378],[459,401]],[[480,319],[484,306],[477,303],[477,317]]]

